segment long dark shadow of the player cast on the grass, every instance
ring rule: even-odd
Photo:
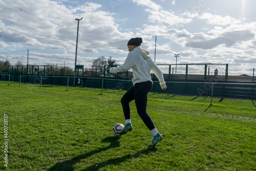
[[[89,152],[89,153],[86,153],[86,154],[76,156],[76,157],[74,157],[70,160],[58,162],[54,166],[49,168],[48,171],[53,171],[53,170],[75,170],[73,165],[80,162],[80,160],[86,159],[86,158],[88,158],[88,157],[90,157],[94,154],[101,153],[103,151],[107,151],[110,148],[119,147],[120,146],[119,141],[118,141],[119,138],[120,137],[106,137],[101,142],[110,142],[111,144],[109,146],[104,147],[104,148],[100,148],[98,150],[95,150],[95,151],[92,151],[92,152]],[[93,165],[91,165],[91,166],[89,166],[89,167],[87,167],[86,169],[83,169],[83,170],[98,170],[102,167],[105,167],[106,165],[118,164],[118,163],[124,162],[128,159],[131,159],[131,158],[137,158],[142,154],[148,154],[148,153],[150,153],[152,151],[155,151],[155,150],[156,150],[155,147],[148,147],[147,149],[142,149],[141,151],[137,152],[136,154],[133,154],[133,155],[129,154],[129,155],[126,155],[126,156],[123,156],[123,157],[120,157],[120,158],[110,159],[110,160],[107,160],[107,161],[104,161],[104,162],[101,162],[101,163],[97,163],[97,166],[95,164],[93,164]]]

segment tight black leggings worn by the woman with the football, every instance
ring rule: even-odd
[[[131,119],[130,104],[129,102],[135,100],[137,112],[148,129],[155,129],[154,122],[150,115],[146,111],[147,106],[147,93],[152,89],[152,82],[140,82],[136,83],[131,89],[129,89],[121,98],[123,107],[123,113],[125,119]]]

